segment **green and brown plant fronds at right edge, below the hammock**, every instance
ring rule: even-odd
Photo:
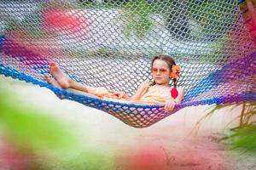
[[[232,144],[232,149],[242,149],[256,153],[256,101],[242,102],[235,105],[213,105],[210,111],[196,123],[195,128],[198,130],[201,122],[210,118],[216,111],[227,107],[231,107],[231,110],[241,110],[241,112],[226,125],[228,127],[232,122],[237,122],[236,127],[229,127],[230,134],[226,134],[224,138],[218,141],[227,140]]]

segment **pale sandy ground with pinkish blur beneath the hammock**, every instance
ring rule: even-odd
[[[24,105],[66,122],[86,140],[84,144],[113,156],[116,169],[136,169],[134,159],[145,155],[154,160],[153,167],[159,167],[155,169],[256,169],[255,155],[228,150],[227,144],[217,142],[226,124],[238,113],[230,108],[204,121],[196,134],[195,123],[212,105],[188,107],[151,127],[137,129],[105,112],[58,99],[47,88],[3,76],[0,81]]]

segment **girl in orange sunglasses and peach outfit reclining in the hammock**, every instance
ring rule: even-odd
[[[84,94],[90,97],[114,100],[119,102],[142,104],[142,105],[164,105],[166,111],[172,111],[176,104],[183,99],[183,88],[177,88],[177,78],[180,68],[175,64],[174,59],[166,54],[155,56],[151,61],[151,74],[153,82],[143,82],[137,88],[136,94],[132,97],[125,92],[108,90],[106,88],[93,88],[68,77],[59,65],[54,62],[49,64],[49,72],[55,78],[44,75],[46,81],[58,88],[64,88],[77,94]],[[174,86],[170,87],[170,81]]]

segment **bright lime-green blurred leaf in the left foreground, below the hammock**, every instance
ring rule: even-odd
[[[0,84],[0,127],[15,143],[41,150],[73,144],[71,131],[53,117],[22,106]]]

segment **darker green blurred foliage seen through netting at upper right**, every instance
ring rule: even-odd
[[[224,36],[236,20],[236,1],[233,3],[220,3],[219,1],[189,0],[187,11],[189,17],[200,23],[202,27],[201,37],[216,39]]]

